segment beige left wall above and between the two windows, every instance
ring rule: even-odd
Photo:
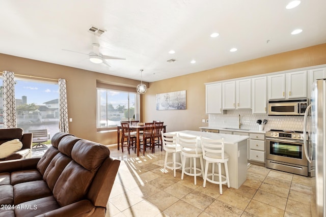
[[[133,89],[135,89],[140,82],[37,60],[0,54],[0,71],[5,70],[21,75],[50,79],[66,79],[68,116],[73,120],[69,122],[69,132],[77,137],[102,144],[116,143],[117,134],[116,132],[97,132],[96,130],[97,82],[101,82],[103,85],[133,86]],[[146,85],[148,85],[148,83],[146,83]]]

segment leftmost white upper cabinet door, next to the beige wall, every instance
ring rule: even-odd
[[[222,83],[206,85],[206,114],[222,113]]]

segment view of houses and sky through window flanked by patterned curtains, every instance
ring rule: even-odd
[[[0,128],[3,128],[3,80],[0,79]],[[17,127],[24,132],[47,129],[59,132],[58,84],[15,79]]]

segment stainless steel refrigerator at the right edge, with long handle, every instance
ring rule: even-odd
[[[307,113],[304,118],[304,131],[307,126]],[[326,216],[325,205],[325,178],[326,178],[326,79],[318,79],[314,82],[311,91],[311,125],[310,139],[305,148],[311,146],[311,153],[307,154],[311,161],[312,177],[312,216]],[[310,122],[310,121],[309,121]]]

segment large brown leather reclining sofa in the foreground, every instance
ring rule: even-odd
[[[0,162],[0,216],[104,216],[120,161],[67,133],[51,144],[41,158]]]

